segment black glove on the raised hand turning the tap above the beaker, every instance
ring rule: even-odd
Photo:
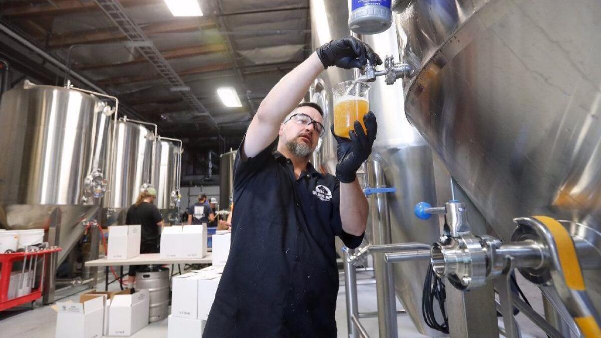
[[[344,69],[361,69],[365,66],[366,60],[370,60],[373,65],[382,64],[382,59],[367,43],[354,37],[329,41],[317,48],[316,52],[325,68],[337,66]]]

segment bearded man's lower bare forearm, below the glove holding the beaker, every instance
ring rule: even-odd
[[[352,183],[340,183],[340,219],[342,229],[350,235],[361,236],[367,226],[369,205],[367,198],[355,179]]]

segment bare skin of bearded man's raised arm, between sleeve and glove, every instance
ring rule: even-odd
[[[254,157],[275,140],[279,124],[301,102],[309,86],[323,70],[322,61],[313,53],[279,80],[252,118],[246,132],[243,155]]]

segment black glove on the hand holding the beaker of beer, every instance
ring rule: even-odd
[[[371,146],[376,141],[376,115],[371,111],[368,112],[363,117],[363,123],[367,129],[367,135],[365,135],[361,123],[355,121],[355,131],[349,132],[350,140],[334,134],[333,124],[330,127],[332,135],[334,135],[334,138],[338,142],[338,149],[336,150],[336,155],[338,156],[336,177],[342,183],[352,183],[355,181],[357,170],[370,156]]]

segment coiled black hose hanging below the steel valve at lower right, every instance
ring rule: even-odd
[[[424,280],[424,291],[421,297],[421,313],[424,316],[426,325],[434,330],[448,334],[449,322],[447,310],[445,309],[445,301],[447,300],[445,283],[434,273],[432,263],[428,266],[428,273],[426,274],[426,280]],[[442,314],[442,324],[439,324],[436,319],[434,300],[438,301],[438,306]]]

